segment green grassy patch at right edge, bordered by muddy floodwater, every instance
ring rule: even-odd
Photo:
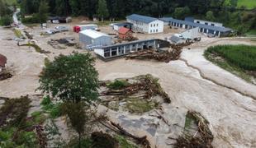
[[[219,67],[256,84],[256,46],[217,45],[208,48],[204,55]]]

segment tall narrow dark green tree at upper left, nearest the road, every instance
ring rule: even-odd
[[[38,19],[40,24],[45,23],[48,17],[48,3],[45,0],[40,2],[39,10],[38,10]]]

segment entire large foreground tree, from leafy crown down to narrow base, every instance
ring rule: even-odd
[[[90,53],[60,55],[53,62],[46,62],[40,75],[39,90],[64,101],[63,111],[78,132],[78,147],[81,147],[81,136],[86,132],[85,124],[92,118],[86,111],[98,99],[98,73],[94,62]]]

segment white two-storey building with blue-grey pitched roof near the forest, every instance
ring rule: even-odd
[[[157,34],[164,32],[164,21],[149,16],[133,14],[126,16],[127,22],[130,22],[132,30],[135,32],[144,32],[147,34]]]

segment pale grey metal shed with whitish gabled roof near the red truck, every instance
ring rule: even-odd
[[[112,42],[111,36],[96,30],[83,30],[79,32],[79,40],[85,45],[107,46]]]

